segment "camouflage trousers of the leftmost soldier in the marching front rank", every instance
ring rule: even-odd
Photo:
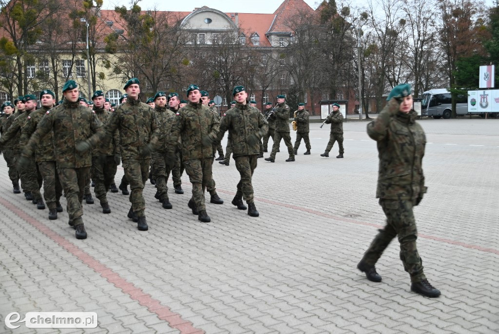
[[[75,225],[83,224],[83,194],[85,186],[90,179],[90,167],[81,168],[57,168],[59,180],[66,194],[67,213],[69,221]]]

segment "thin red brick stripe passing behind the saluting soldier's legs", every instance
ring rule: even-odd
[[[220,190],[220,189],[217,189],[217,190],[220,191],[221,193],[225,193],[225,194],[228,194],[228,195],[236,195],[236,193],[234,193],[232,191]],[[378,228],[378,229],[382,229],[384,227],[384,226],[379,225],[379,224],[366,223],[366,222],[361,222],[361,221],[354,220],[354,219],[348,219],[348,218],[333,216],[333,215],[327,214],[325,212],[316,211],[316,210],[312,210],[312,209],[308,209],[308,208],[303,208],[303,207],[299,207],[299,206],[296,206],[296,205],[291,205],[291,204],[286,204],[286,203],[280,203],[280,202],[276,202],[276,201],[272,201],[272,200],[267,200],[267,199],[264,199],[264,198],[256,198],[255,197],[254,199],[257,200],[257,201],[260,201],[260,202],[264,202],[264,203],[268,203],[268,204],[273,204],[273,205],[278,205],[278,206],[281,206],[281,207],[285,207],[285,208],[289,208],[289,209],[294,209],[294,210],[298,210],[298,211],[308,212],[308,213],[310,213],[312,215],[321,216],[321,217],[324,217],[324,218],[331,218],[331,219],[339,220],[339,221],[342,221],[342,222],[352,223],[352,224],[356,224],[356,225],[372,226],[372,227],[375,227],[375,228]],[[430,235],[427,235],[427,234],[418,234],[418,237],[419,238],[424,238],[424,239],[435,240],[435,241],[439,241],[439,242],[444,242],[444,243],[451,244],[451,245],[462,246],[462,247],[469,248],[469,249],[475,249],[475,250],[481,251],[481,252],[486,252],[486,253],[492,253],[492,254],[499,255],[499,250],[494,249],[494,248],[486,248],[486,247],[482,247],[482,246],[478,246],[478,245],[471,245],[471,244],[467,244],[467,243],[464,243],[464,242],[461,242],[461,241],[455,241],[455,240],[451,240],[451,239],[430,236]]]

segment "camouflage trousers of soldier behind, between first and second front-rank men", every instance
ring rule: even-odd
[[[92,168],[90,173],[92,180],[95,183],[95,197],[100,201],[100,204],[107,203],[107,191],[114,182],[116,174],[116,162],[114,155],[106,155],[102,157],[92,157]]]

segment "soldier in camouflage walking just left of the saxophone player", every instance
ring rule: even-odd
[[[287,146],[289,158],[286,162],[294,161],[293,145],[291,144],[291,136],[289,135],[289,106],[286,104],[286,97],[284,95],[277,95],[277,106],[275,112],[270,115],[270,118],[275,120],[274,144],[272,145],[272,152],[266,161],[275,162],[275,154],[279,150],[281,139]]]

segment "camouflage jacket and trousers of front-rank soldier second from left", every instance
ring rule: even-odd
[[[144,154],[146,145],[156,145],[159,129],[154,110],[147,104],[137,100],[127,99],[111,113],[106,126],[102,146],[113,138],[119,130],[122,166],[126,180],[130,183],[130,202],[132,210],[138,217],[145,216],[146,203],[142,196],[144,185],[149,177],[150,154]],[[98,136],[89,139],[95,146]]]

